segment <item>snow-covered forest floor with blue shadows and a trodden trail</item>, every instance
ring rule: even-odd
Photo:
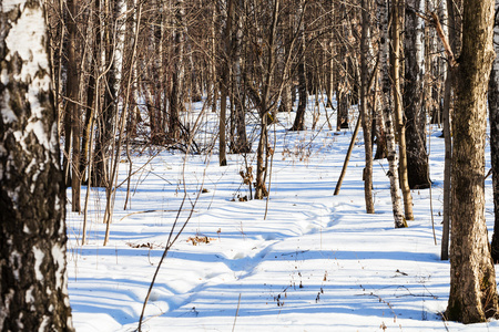
[[[416,220],[409,228],[394,229],[386,160],[375,160],[376,214],[365,212],[361,133],[342,190],[333,195],[353,131],[329,131],[324,108],[320,112],[315,131],[312,110],[305,132],[286,131],[294,113],[279,114],[279,124],[269,127],[275,154],[268,201],[240,201],[249,197],[240,172],[246,162],[255,166],[253,155],[247,160],[228,155],[228,166],[220,167],[216,152],[185,156],[164,151],[152,158],[154,152],[146,149],[133,159],[139,172],[131,181],[130,209],[123,210],[126,186],[118,191],[108,246],[103,189],[91,191],[84,246],[83,217],[69,208],[69,291],[77,331],[136,330],[172,225],[177,221],[176,231],[191,210],[159,271],[142,331],[499,329],[498,321],[464,325],[440,317],[450,269],[440,260],[440,131],[430,127],[428,142],[432,191],[414,190]],[[328,113],[335,127],[335,116]],[[213,114],[205,118],[216,120]],[[208,139],[208,134],[198,135],[200,144]],[[129,164],[121,166],[119,183]],[[490,178],[486,191],[491,236]]]

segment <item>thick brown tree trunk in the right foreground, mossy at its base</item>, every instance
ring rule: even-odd
[[[465,0],[452,121],[450,294],[446,318],[485,322],[498,310],[485,218],[487,83],[493,61],[493,0]]]

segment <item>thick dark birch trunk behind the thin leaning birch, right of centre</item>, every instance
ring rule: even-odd
[[[425,0],[407,0],[405,30],[405,90],[407,176],[409,187],[429,188],[426,153],[426,112],[424,107],[425,28],[417,13],[425,12]]]

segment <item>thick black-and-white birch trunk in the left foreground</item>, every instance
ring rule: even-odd
[[[1,331],[73,331],[65,186],[41,3],[0,6]]]

